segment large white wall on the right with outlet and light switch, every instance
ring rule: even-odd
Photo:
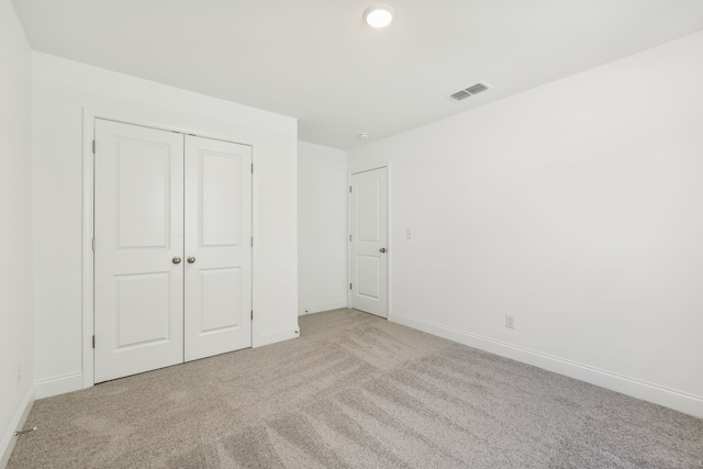
[[[703,416],[701,83],[703,33],[349,152],[391,320]]]

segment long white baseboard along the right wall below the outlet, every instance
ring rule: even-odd
[[[703,397],[391,312],[389,321],[703,418]]]

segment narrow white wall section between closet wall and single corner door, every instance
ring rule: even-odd
[[[298,313],[347,305],[347,154],[298,144]]]

